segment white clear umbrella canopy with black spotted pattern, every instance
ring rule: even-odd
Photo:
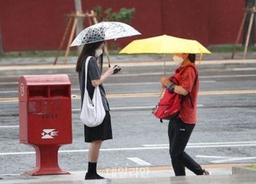
[[[140,34],[132,26],[122,22],[99,22],[82,30],[70,46],[130,37]]]

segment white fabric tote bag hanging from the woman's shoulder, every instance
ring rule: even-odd
[[[102,103],[102,95],[99,90],[99,86],[96,86],[94,89],[93,99],[90,99],[88,91],[86,89],[87,86],[87,72],[88,72],[88,63],[90,61],[91,56],[86,59],[86,69],[85,69],[85,94],[82,102],[82,110],[80,114],[81,121],[89,127],[98,126],[103,122],[105,118],[106,111],[104,109]]]

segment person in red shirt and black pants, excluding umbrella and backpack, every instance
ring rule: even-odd
[[[168,126],[168,136],[170,142],[170,158],[176,176],[186,175],[185,167],[197,175],[210,174],[207,170],[190,158],[184,151],[190,135],[197,122],[197,99],[198,99],[198,71],[194,64],[195,54],[174,54],[174,62],[179,66],[175,72],[186,67],[178,78],[178,84],[170,82],[169,78],[163,77],[160,80],[162,88],[168,88],[174,93],[181,94],[184,101],[181,110],[176,117],[171,118]],[[186,98],[185,98],[186,97]]]

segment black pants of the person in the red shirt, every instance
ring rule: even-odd
[[[182,122],[180,118],[173,118],[169,122],[170,158],[176,176],[185,176],[185,167],[194,174],[203,174],[202,167],[184,152],[193,129],[194,125]]]

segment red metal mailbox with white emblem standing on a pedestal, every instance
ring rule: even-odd
[[[69,77],[25,75],[18,92],[19,139],[36,151],[36,167],[26,174],[69,174],[58,166],[59,147],[72,143]]]

